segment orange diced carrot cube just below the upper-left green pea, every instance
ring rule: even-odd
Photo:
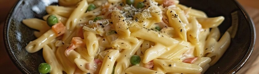
[[[57,23],[52,26],[52,31],[55,32],[56,36],[63,35],[65,33],[66,27],[63,23]]]

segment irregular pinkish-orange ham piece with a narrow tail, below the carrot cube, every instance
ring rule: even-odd
[[[70,46],[65,51],[65,55],[68,56],[70,51],[76,49],[79,46],[83,46],[83,45],[85,45],[83,39],[81,39],[80,37],[73,37],[71,40]]]

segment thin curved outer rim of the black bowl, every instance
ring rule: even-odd
[[[24,0],[19,0],[17,1],[17,3],[15,4],[15,6],[12,7],[12,9],[10,10],[7,18],[6,18],[6,22],[4,24],[4,33],[3,33],[3,38],[4,38],[4,44],[6,47],[6,52],[9,55],[9,58],[12,60],[12,62],[15,64],[15,66],[17,68],[19,68],[19,70],[24,73],[24,74],[31,74],[30,71],[28,71],[27,68],[23,67],[23,64],[21,64],[20,61],[18,61],[17,57],[15,56],[15,54],[13,53],[13,49],[10,47],[10,42],[9,42],[9,37],[8,37],[8,32],[9,32],[9,26],[10,26],[10,21],[12,19],[11,16],[13,16],[13,12],[14,10],[16,10],[18,8],[18,6],[20,4],[22,4]],[[255,25],[253,22],[253,19],[251,19],[251,17],[249,17],[249,15],[247,14],[247,12],[244,10],[244,8],[240,5],[240,3],[238,3],[236,0],[232,0],[237,6],[238,8],[242,11],[242,13],[244,14],[246,21],[248,21],[249,26],[251,28],[251,43],[248,49],[248,52],[245,54],[244,58],[242,58],[242,60],[235,66],[233,67],[231,70],[227,71],[226,73],[236,73],[237,71],[239,71],[244,64],[248,61],[249,57],[251,56],[253,49],[254,49],[254,45],[255,45],[255,40],[256,40],[256,30],[255,30]],[[249,21],[250,20],[250,21]]]

